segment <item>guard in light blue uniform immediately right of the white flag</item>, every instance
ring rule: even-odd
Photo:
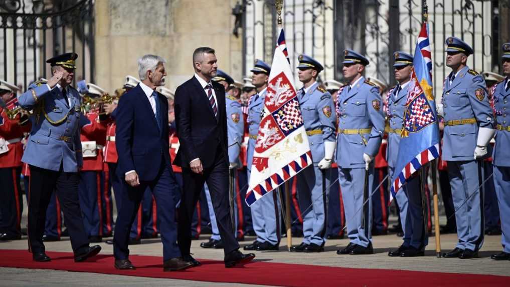
[[[297,175],[297,198],[303,217],[303,242],[294,252],[321,252],[326,242],[327,196],[335,152],[337,116],[331,94],[317,82],[324,69],[307,55],[299,55],[298,76],[303,87],[297,92],[307,130],[313,165]]]

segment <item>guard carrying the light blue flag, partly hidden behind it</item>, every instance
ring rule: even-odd
[[[388,118],[390,130],[388,133],[388,161],[389,177],[393,178],[397,165],[400,134],[404,123],[404,111],[413,69],[413,56],[402,51],[393,54],[395,57],[395,80],[398,84],[388,91]],[[406,181],[403,192],[397,192],[396,200],[399,207],[400,221],[403,230],[403,243],[388,253],[388,256],[412,257],[423,256],[428,236],[424,229],[424,219],[421,204],[420,177],[415,176]]]

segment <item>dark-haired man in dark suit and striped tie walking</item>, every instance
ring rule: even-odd
[[[249,262],[255,254],[243,254],[232,230],[228,204],[228,149],[225,90],[211,82],[216,76],[214,49],[200,47],[193,53],[195,75],[175,91],[175,123],[181,146],[175,164],[183,168],[184,189],[179,208],[179,248],[190,254],[191,219],[204,182],[207,182],[221,239],[225,267]],[[185,259],[186,259],[185,257]]]

